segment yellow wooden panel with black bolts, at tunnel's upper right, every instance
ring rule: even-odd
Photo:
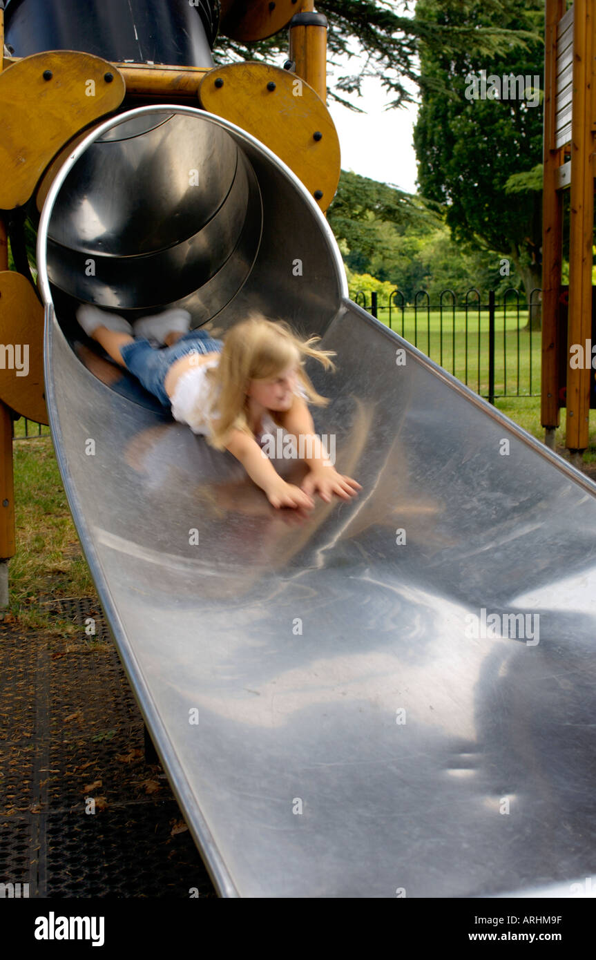
[[[218,81],[223,84],[218,86]],[[275,84],[274,89],[268,84]],[[328,109],[312,87],[280,67],[232,63],[206,74],[199,98],[204,109],[273,150],[326,210],[340,180],[340,142]]]

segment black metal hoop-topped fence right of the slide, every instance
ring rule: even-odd
[[[426,290],[410,303],[400,290],[385,298],[386,305],[374,291],[358,291],[354,300],[490,403],[497,396],[539,396],[538,288],[529,304],[513,287],[500,302],[492,290],[483,302],[475,287],[459,303],[453,290],[442,290],[435,303]]]

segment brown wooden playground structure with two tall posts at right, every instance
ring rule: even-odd
[[[596,133],[594,6],[546,0],[544,49],[544,182],[542,200],[542,403],[546,443],[554,445],[560,407],[567,408],[565,445],[580,466],[594,406],[591,344]],[[570,190],[568,318],[561,289],[563,190]],[[579,345],[583,367],[571,365]],[[587,349],[585,349],[587,348]]]

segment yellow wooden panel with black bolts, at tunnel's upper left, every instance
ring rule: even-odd
[[[70,50],[35,54],[0,73],[0,208],[25,204],[60,147],[119,107],[125,90],[107,60]]]

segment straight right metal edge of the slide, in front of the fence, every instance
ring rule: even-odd
[[[371,326],[376,327],[380,332],[385,333],[390,338],[393,338],[396,343],[402,346],[407,350],[412,356],[414,356],[418,363],[423,367],[426,367],[427,370],[433,372],[436,376],[439,376],[443,383],[446,386],[450,387],[452,390],[455,390],[456,393],[461,396],[465,396],[465,399],[473,403],[475,406],[479,407],[483,413],[488,414],[492,420],[496,420],[497,423],[503,423],[512,433],[514,433],[519,440],[522,440],[528,446],[531,446],[536,453],[539,453],[544,460],[547,460],[553,467],[560,469],[562,473],[566,473],[573,480],[579,483],[584,490],[588,493],[591,493],[593,496],[596,496],[596,483],[593,480],[590,480],[589,477],[586,477],[581,470],[576,467],[573,467],[572,464],[568,464],[566,460],[563,460],[559,454],[553,453],[552,450],[541,444],[539,440],[536,440],[531,433],[527,430],[524,430],[522,426],[515,423],[514,420],[510,420],[507,414],[502,413],[500,410],[497,410],[496,407],[493,407],[488,400],[485,400],[484,396],[475,394],[473,390],[462,383],[461,380],[458,380],[457,377],[446,370],[443,367],[440,367],[438,363],[434,360],[431,360],[430,357],[426,356],[425,353],[422,353],[414,344],[411,344],[408,340],[404,340],[403,337],[400,337],[398,333],[395,333],[394,330],[390,330],[385,324],[381,324],[379,320],[376,320],[370,313],[368,313],[363,307],[358,303],[354,303],[353,300],[345,298],[342,304],[343,309],[349,309],[351,312],[356,312],[363,320],[369,323]]]

